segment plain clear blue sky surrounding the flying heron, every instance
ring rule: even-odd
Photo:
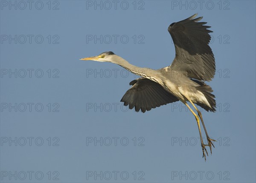
[[[1,182],[256,181],[255,1],[0,3]],[[216,61],[217,111],[202,110],[217,140],[206,162],[182,103],[129,110],[119,101],[137,76],[79,60],[113,51],[168,66],[168,26],[195,13],[212,26]]]

